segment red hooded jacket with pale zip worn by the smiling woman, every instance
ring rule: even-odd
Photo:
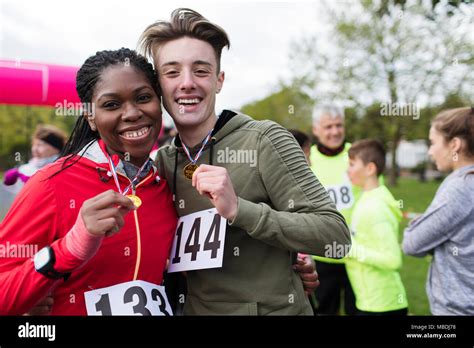
[[[104,238],[95,256],[81,267],[83,261],[66,247],[64,237],[82,203],[117,190],[104,148],[102,141],[94,142],[77,163],[53,177],[63,159],[44,167],[16,197],[0,225],[0,315],[21,315],[50,293],[53,315],[86,315],[86,291],[132,280],[161,284],[177,216],[168,185],[154,167],[136,186],[142,205],[125,215],[125,226]],[[123,189],[130,180],[118,156],[112,160]],[[55,252],[55,270],[72,272],[66,281],[36,272],[32,253],[25,252],[47,245]]]

